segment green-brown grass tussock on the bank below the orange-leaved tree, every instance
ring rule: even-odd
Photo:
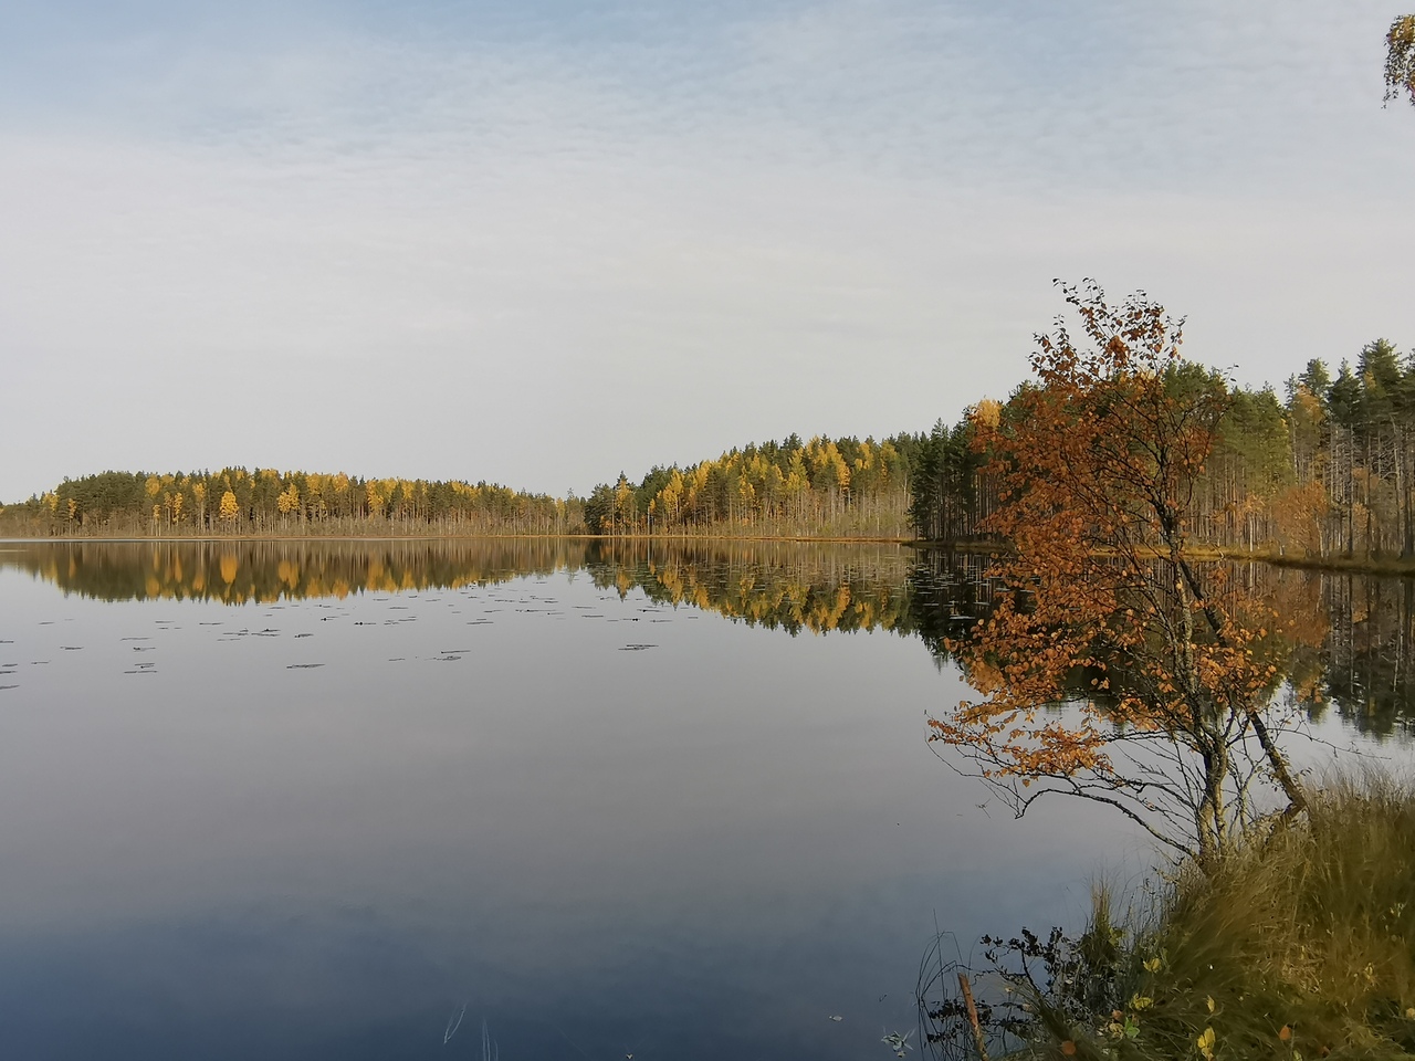
[[[1415,1058],[1405,784],[1334,778],[1306,821],[1249,837],[1213,876],[1184,870],[1125,912],[1101,891],[1095,908],[1043,975],[1010,979],[1029,1014],[1013,1055]]]

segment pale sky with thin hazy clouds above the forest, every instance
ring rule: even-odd
[[[1371,0],[6,0],[0,501],[563,495],[955,420],[1053,280],[1245,385],[1415,351]]]

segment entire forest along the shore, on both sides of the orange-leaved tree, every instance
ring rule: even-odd
[[[1194,364],[1174,388],[1223,402],[1189,528],[1197,545],[1303,556],[1415,557],[1415,359],[1385,340],[1333,375],[1312,361],[1271,388],[1232,386]],[[555,498],[463,481],[224,468],[106,471],[0,508],[14,536],[669,535],[918,538],[968,542],[998,504],[982,400],[957,424],[876,441],[791,436],[716,460],[620,474],[589,497]]]

